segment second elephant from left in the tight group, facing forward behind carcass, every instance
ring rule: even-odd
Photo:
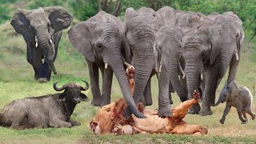
[[[151,77],[156,74],[154,65],[155,33],[163,26],[162,16],[151,8],[126,9],[125,35],[132,52],[134,74],[134,102],[152,105]],[[168,102],[169,103],[169,102]]]

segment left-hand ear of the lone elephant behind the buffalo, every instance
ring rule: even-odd
[[[34,33],[29,28],[29,22],[26,19],[26,15],[32,13],[31,10],[16,10],[14,17],[10,22],[11,26],[14,26],[14,30],[28,41],[34,41]]]

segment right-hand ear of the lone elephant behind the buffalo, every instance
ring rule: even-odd
[[[60,30],[68,28],[74,19],[73,15],[61,6],[45,7],[44,10],[49,14],[50,34],[55,34]]]

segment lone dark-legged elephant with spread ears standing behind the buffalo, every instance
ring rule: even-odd
[[[26,59],[34,68],[34,79],[49,82],[51,71],[57,74],[54,61],[62,30],[68,28],[73,15],[61,6],[16,10],[10,24],[26,41]],[[42,63],[42,59],[44,62]]]

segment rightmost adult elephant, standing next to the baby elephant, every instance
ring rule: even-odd
[[[202,72],[206,73],[202,109],[192,107],[192,113],[202,116],[213,114],[210,106],[214,105],[216,89],[229,66],[227,83],[235,79],[243,38],[242,21],[233,12],[219,14],[214,23],[203,23],[184,34],[182,56],[190,99],[200,83],[198,78],[203,79]]]

